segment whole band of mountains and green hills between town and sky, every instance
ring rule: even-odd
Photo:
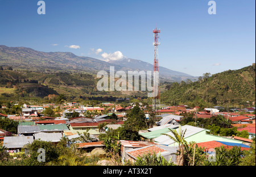
[[[96,73],[109,71],[152,70],[153,65],[131,58],[101,61],[79,57],[71,52],[39,52],[31,48],[0,45],[0,100],[51,101],[66,95],[70,100],[94,99],[105,102],[131,96],[147,98],[145,91],[98,91]],[[191,107],[220,105],[255,105],[255,63],[238,70],[195,78],[185,73],[159,67],[161,103],[187,104]],[[184,82],[197,79],[195,82]]]

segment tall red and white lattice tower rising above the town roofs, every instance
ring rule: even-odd
[[[155,37],[155,42],[153,45],[155,46],[155,57],[154,57],[154,98],[153,98],[153,108],[154,110],[159,110],[160,111],[160,91],[159,91],[159,64],[158,64],[158,45],[160,43],[158,42],[159,38],[159,33],[160,29],[153,29],[154,37]]]

